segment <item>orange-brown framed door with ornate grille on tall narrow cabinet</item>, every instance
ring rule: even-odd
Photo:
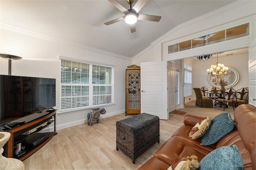
[[[140,70],[126,69],[126,114],[140,113]]]

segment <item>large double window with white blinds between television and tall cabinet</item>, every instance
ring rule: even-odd
[[[114,103],[114,67],[60,61],[60,111]]]

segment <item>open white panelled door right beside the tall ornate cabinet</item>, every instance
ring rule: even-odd
[[[169,119],[167,61],[140,63],[141,113]]]

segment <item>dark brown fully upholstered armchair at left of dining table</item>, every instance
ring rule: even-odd
[[[198,107],[213,107],[212,99],[203,97],[200,88],[193,88],[196,94],[196,106]]]

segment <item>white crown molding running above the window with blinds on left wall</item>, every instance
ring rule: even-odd
[[[36,37],[36,38],[40,38],[40,39],[44,39],[44,40],[48,40],[48,41],[52,41],[52,42],[56,42],[56,43],[62,43],[64,45],[68,45],[68,46],[72,46],[72,47],[92,51],[92,52],[95,52],[95,53],[100,53],[100,54],[103,54],[103,55],[109,55],[111,57],[116,57],[116,58],[119,58],[119,59],[121,58],[121,59],[126,59],[126,60],[129,60],[129,61],[132,61],[131,57],[126,57],[124,55],[119,55],[119,54],[112,53],[112,52],[109,52],[109,51],[104,51],[102,49],[97,49],[97,48],[90,47],[90,46],[87,46],[87,45],[82,45],[82,44],[79,44],[79,43],[74,43],[74,42],[70,42],[70,41],[67,41],[67,40],[62,40],[62,39],[55,38],[55,37],[52,37],[52,36],[48,36],[48,35],[45,35],[45,34],[40,34],[38,32],[33,32],[33,31],[30,31],[30,30],[26,30],[24,28],[12,26],[10,24],[6,24],[6,23],[3,23],[3,22],[0,22],[0,28],[4,29],[4,30],[9,30],[9,31],[12,31],[12,32],[17,32],[19,34],[24,34],[24,35],[27,35],[27,36],[32,36],[32,37]]]

